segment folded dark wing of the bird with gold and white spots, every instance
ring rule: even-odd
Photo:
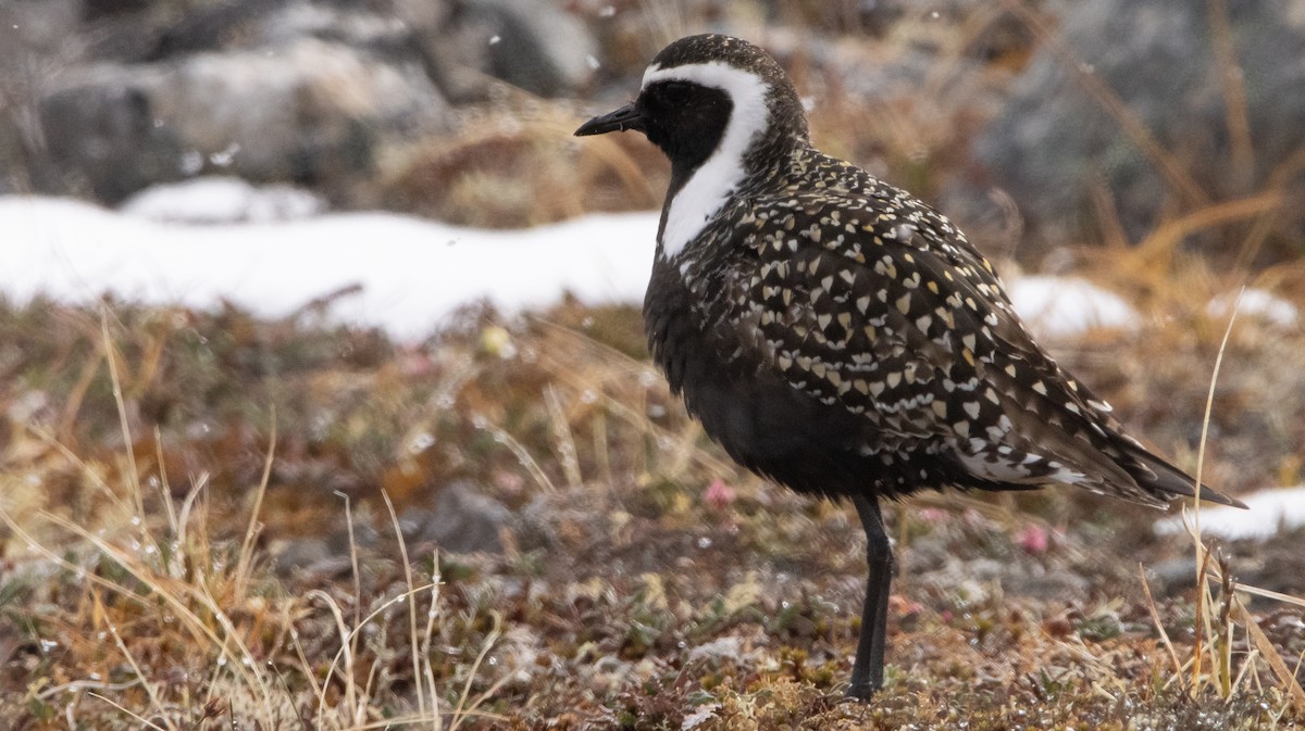
[[[977,481],[1158,502],[1121,466],[1114,418],[1032,340],[945,218],[827,194],[756,210],[770,225],[741,244],[757,274],[727,300],[749,304],[737,321],[792,387],[873,421],[867,451],[928,446]]]

